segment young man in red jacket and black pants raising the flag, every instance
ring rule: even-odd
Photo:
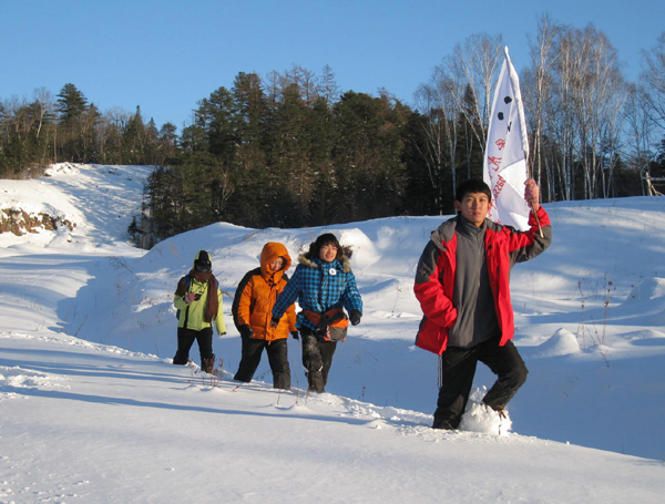
[[[522,233],[487,218],[492,193],[483,181],[462,183],[457,217],[433,232],[422,251],[413,290],[424,317],[416,346],[441,359],[433,429],[459,426],[479,361],[498,377],[483,403],[500,414],[526,381],[526,367],[511,341],[510,269],[540,255],[552,240],[539,193],[535,181],[525,182],[524,199],[533,213],[530,229]]]

